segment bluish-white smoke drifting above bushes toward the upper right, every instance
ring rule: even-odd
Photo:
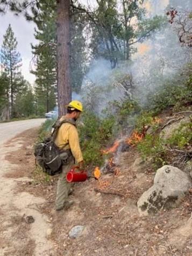
[[[157,13],[165,15],[166,5],[178,1],[162,1],[159,9],[158,2],[148,1],[151,17]],[[179,3],[181,7],[191,5],[188,0]],[[82,84],[82,99],[88,109],[101,115],[109,102],[122,102],[125,97],[145,106],[148,94],[155,93],[167,79],[172,79],[191,58],[168,20],[159,32],[137,47],[140,50],[132,56],[132,62],[121,63],[116,69],[111,69],[107,60],[93,61]]]

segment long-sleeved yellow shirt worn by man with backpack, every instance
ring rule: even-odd
[[[55,144],[59,148],[67,150],[70,148],[77,163],[83,161],[79,136],[75,125],[63,123],[55,138]],[[63,146],[66,145],[64,148]]]

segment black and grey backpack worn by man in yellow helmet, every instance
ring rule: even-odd
[[[70,150],[62,150],[54,143],[56,134],[63,123],[70,123],[76,126],[75,120],[63,119],[57,120],[53,124],[53,132],[51,137],[46,138],[34,147],[35,162],[42,167],[48,175],[55,175],[62,172],[62,165],[68,165],[69,160],[73,159]],[[63,148],[66,145],[63,145]]]

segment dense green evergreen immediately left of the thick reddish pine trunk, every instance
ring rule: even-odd
[[[50,8],[47,16],[47,5],[44,3],[39,8],[41,12],[34,19],[37,24],[34,35],[39,44],[32,46],[37,55],[37,68],[32,73],[36,76],[37,113],[43,115],[56,105],[56,12]]]

